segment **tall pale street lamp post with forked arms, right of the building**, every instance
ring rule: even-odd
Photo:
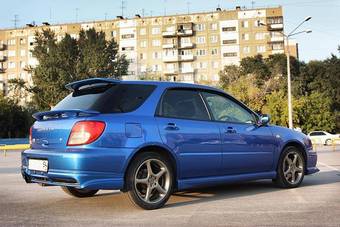
[[[303,23],[309,21],[312,17],[306,17],[298,26],[296,26],[288,35],[284,32],[280,32],[286,39],[286,55],[287,55],[287,96],[288,96],[288,126],[293,129],[293,106],[292,106],[292,90],[291,90],[291,73],[290,73],[290,52],[289,52],[289,38],[301,33],[311,33],[311,30],[304,30],[300,32],[295,32]],[[260,25],[266,26],[264,23]]]

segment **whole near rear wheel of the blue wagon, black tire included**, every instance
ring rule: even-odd
[[[148,163],[151,166],[151,174],[147,168]],[[162,171],[163,174],[161,174]],[[157,174],[159,177],[156,176]],[[146,210],[161,208],[173,191],[174,171],[171,161],[157,152],[143,152],[133,159],[127,170],[125,181],[127,194],[135,206]],[[158,186],[164,190],[163,193],[159,191]],[[148,189],[149,196],[147,196]],[[144,192],[145,195],[143,195]]]

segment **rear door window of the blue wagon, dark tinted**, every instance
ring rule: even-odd
[[[203,100],[194,90],[171,89],[166,91],[158,115],[190,120],[210,120]]]

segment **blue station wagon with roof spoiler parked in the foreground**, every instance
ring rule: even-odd
[[[66,87],[51,111],[33,115],[27,183],[76,197],[119,189],[156,209],[175,190],[257,179],[294,188],[318,171],[306,135],[215,88],[103,78]]]

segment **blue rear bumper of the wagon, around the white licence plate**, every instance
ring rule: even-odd
[[[26,150],[21,174],[27,183],[87,189],[122,189],[131,149]],[[28,159],[47,159],[48,171],[28,169]]]

